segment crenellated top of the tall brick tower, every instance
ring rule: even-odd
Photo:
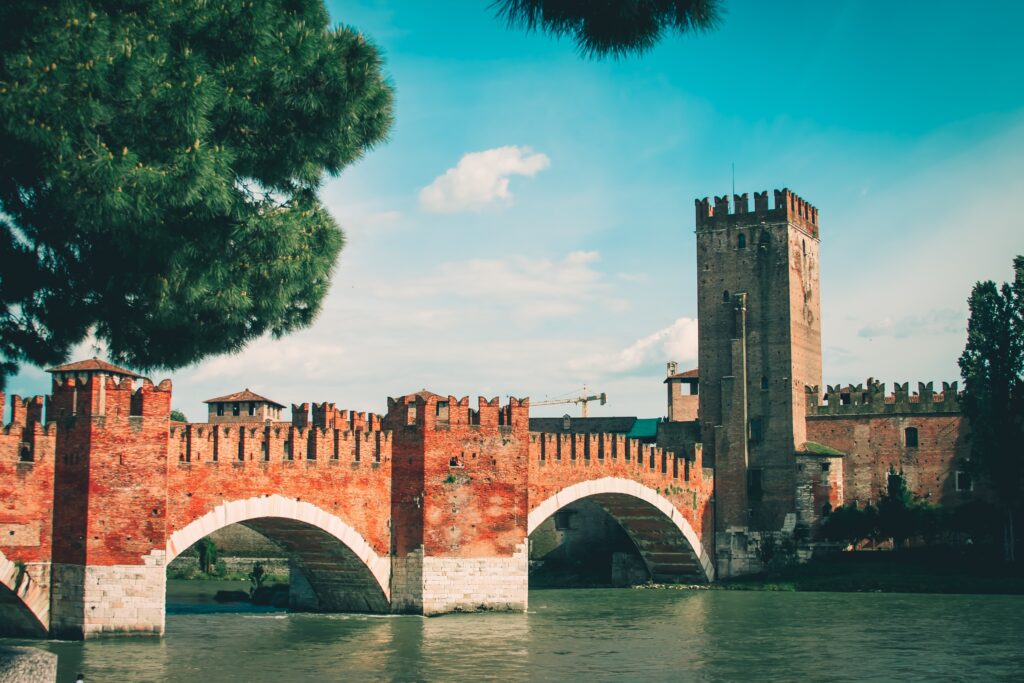
[[[714,198],[714,204],[706,197],[694,200],[696,206],[696,229],[716,229],[761,222],[790,222],[812,237],[818,237],[818,210],[788,188],[775,190],[775,208],[768,207],[768,191],[754,193],[754,211],[751,212],[746,193]]]

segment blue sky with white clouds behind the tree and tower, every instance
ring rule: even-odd
[[[732,164],[737,191],[820,210],[826,383],[957,379],[972,284],[1024,253],[1024,5],[733,0],[716,32],[591,61],[488,4],[330,3],[382,48],[396,125],[325,183],[348,244],[316,324],[158,373],[176,408],[586,384],[595,415],[664,415],[665,362],[696,360],[693,199]]]

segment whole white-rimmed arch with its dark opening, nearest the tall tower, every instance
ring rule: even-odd
[[[560,490],[529,513],[528,533],[531,585],[534,575],[549,586],[580,585],[577,578],[584,585],[702,583],[713,575],[711,559],[680,511],[628,479],[605,477]],[[546,567],[551,563],[553,571]]]

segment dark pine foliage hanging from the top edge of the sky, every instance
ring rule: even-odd
[[[497,0],[510,28],[544,31],[575,41],[589,57],[646,52],[670,31],[714,29],[718,0]]]

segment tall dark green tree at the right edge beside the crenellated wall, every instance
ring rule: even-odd
[[[1008,560],[1016,556],[1014,517],[1021,509],[1024,475],[1024,256],[1014,259],[1014,271],[1013,284],[974,286],[967,346],[959,357],[971,465],[1002,508]]]

